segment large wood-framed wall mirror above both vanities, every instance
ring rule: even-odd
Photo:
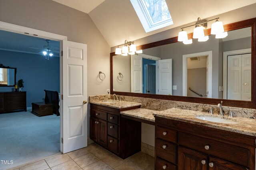
[[[110,53],[111,94],[256,108],[255,24],[224,25],[223,39],[184,45],[173,37],[137,47],[142,54]]]

